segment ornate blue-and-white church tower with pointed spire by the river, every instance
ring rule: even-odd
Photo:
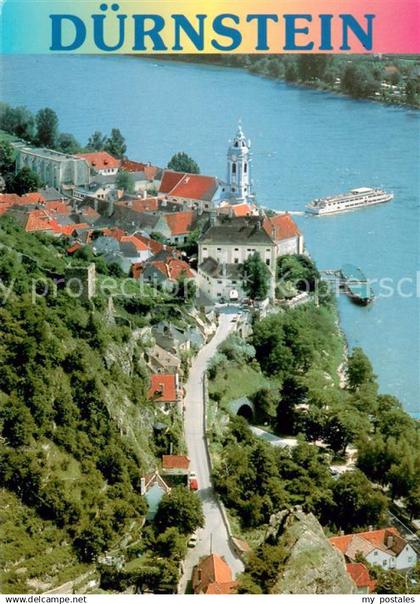
[[[239,122],[235,138],[227,154],[227,184],[231,200],[236,203],[248,201],[252,195],[251,141],[245,138]]]

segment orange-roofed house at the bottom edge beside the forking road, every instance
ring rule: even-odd
[[[203,556],[193,569],[192,588],[195,594],[233,594],[237,585],[229,565],[218,554]]]

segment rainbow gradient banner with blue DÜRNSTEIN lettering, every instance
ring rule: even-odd
[[[418,0],[0,0],[3,53],[418,53]]]

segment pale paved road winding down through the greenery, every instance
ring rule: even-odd
[[[180,586],[181,592],[185,592],[193,567],[201,556],[210,553],[210,547],[214,554],[225,558],[234,575],[242,572],[244,568],[240,558],[230,548],[226,527],[210,480],[210,467],[204,441],[203,374],[218,345],[234,328],[235,324],[232,319],[235,316],[234,314],[220,315],[218,329],[213,339],[200,350],[195,358],[185,386],[185,439],[188,456],[191,459],[190,468],[197,474],[198,495],[203,502],[205,527],[198,532],[197,545],[188,551]]]

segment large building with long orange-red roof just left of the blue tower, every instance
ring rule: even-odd
[[[214,176],[187,174],[165,170],[159,186],[159,196],[185,202],[190,208],[210,210],[220,198],[221,186]]]

